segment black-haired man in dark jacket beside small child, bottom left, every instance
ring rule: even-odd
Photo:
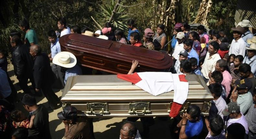
[[[49,114],[43,104],[36,104],[34,96],[25,94],[21,102],[24,108],[29,112],[29,119],[31,115],[35,115],[34,124],[29,128],[29,138],[33,139],[51,139],[49,128]]]

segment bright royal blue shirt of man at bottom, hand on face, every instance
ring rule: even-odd
[[[192,123],[188,120],[185,128],[185,134],[188,136],[188,138],[192,138],[193,136],[198,136],[201,133],[202,129],[203,129],[202,118],[195,123]]]

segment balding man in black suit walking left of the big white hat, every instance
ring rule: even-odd
[[[41,53],[39,45],[30,47],[29,53],[34,58],[33,75],[36,84],[36,91],[43,91],[44,96],[49,102],[50,109],[57,109],[57,103],[60,103],[58,96],[52,91],[54,83],[54,73],[52,72],[50,59],[45,53]]]

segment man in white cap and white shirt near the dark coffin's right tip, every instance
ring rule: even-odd
[[[176,42],[176,45],[175,45],[175,48],[174,48],[174,51],[172,54],[172,59],[179,60],[180,51],[185,50],[183,48],[184,38],[185,38],[185,34],[183,32],[177,33],[177,35],[176,35],[177,42]]]

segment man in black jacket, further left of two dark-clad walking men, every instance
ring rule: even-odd
[[[24,93],[30,93],[28,86],[28,79],[35,88],[34,78],[32,74],[33,62],[29,55],[29,50],[23,45],[22,41],[17,35],[11,38],[11,46],[15,48],[12,53],[12,64],[14,67],[15,75],[19,80],[19,86]]]

